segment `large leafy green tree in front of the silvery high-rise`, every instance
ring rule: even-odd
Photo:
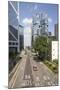
[[[33,42],[33,48],[35,52],[38,52],[38,56],[41,60],[47,59],[48,43],[47,37],[37,37]]]

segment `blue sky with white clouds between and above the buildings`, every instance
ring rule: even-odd
[[[48,15],[48,31],[54,35],[54,24],[58,23],[58,5],[31,2],[19,4],[20,24],[24,26],[24,46],[31,46],[31,26],[34,13],[45,12]]]

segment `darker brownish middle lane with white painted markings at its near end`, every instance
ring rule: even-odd
[[[32,69],[31,69],[31,63],[30,63],[30,56],[27,55],[25,70],[24,70],[24,77],[23,80],[26,82],[25,87],[32,87],[33,85],[33,76],[32,76]]]

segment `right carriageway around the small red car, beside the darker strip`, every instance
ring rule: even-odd
[[[38,70],[33,71],[33,65],[37,65]],[[58,85],[58,75],[55,75],[42,62],[36,62],[31,57],[31,67],[35,86],[55,86]]]

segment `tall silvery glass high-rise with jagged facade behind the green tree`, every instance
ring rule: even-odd
[[[48,16],[46,13],[37,13],[33,16],[32,41],[37,36],[48,35]]]

